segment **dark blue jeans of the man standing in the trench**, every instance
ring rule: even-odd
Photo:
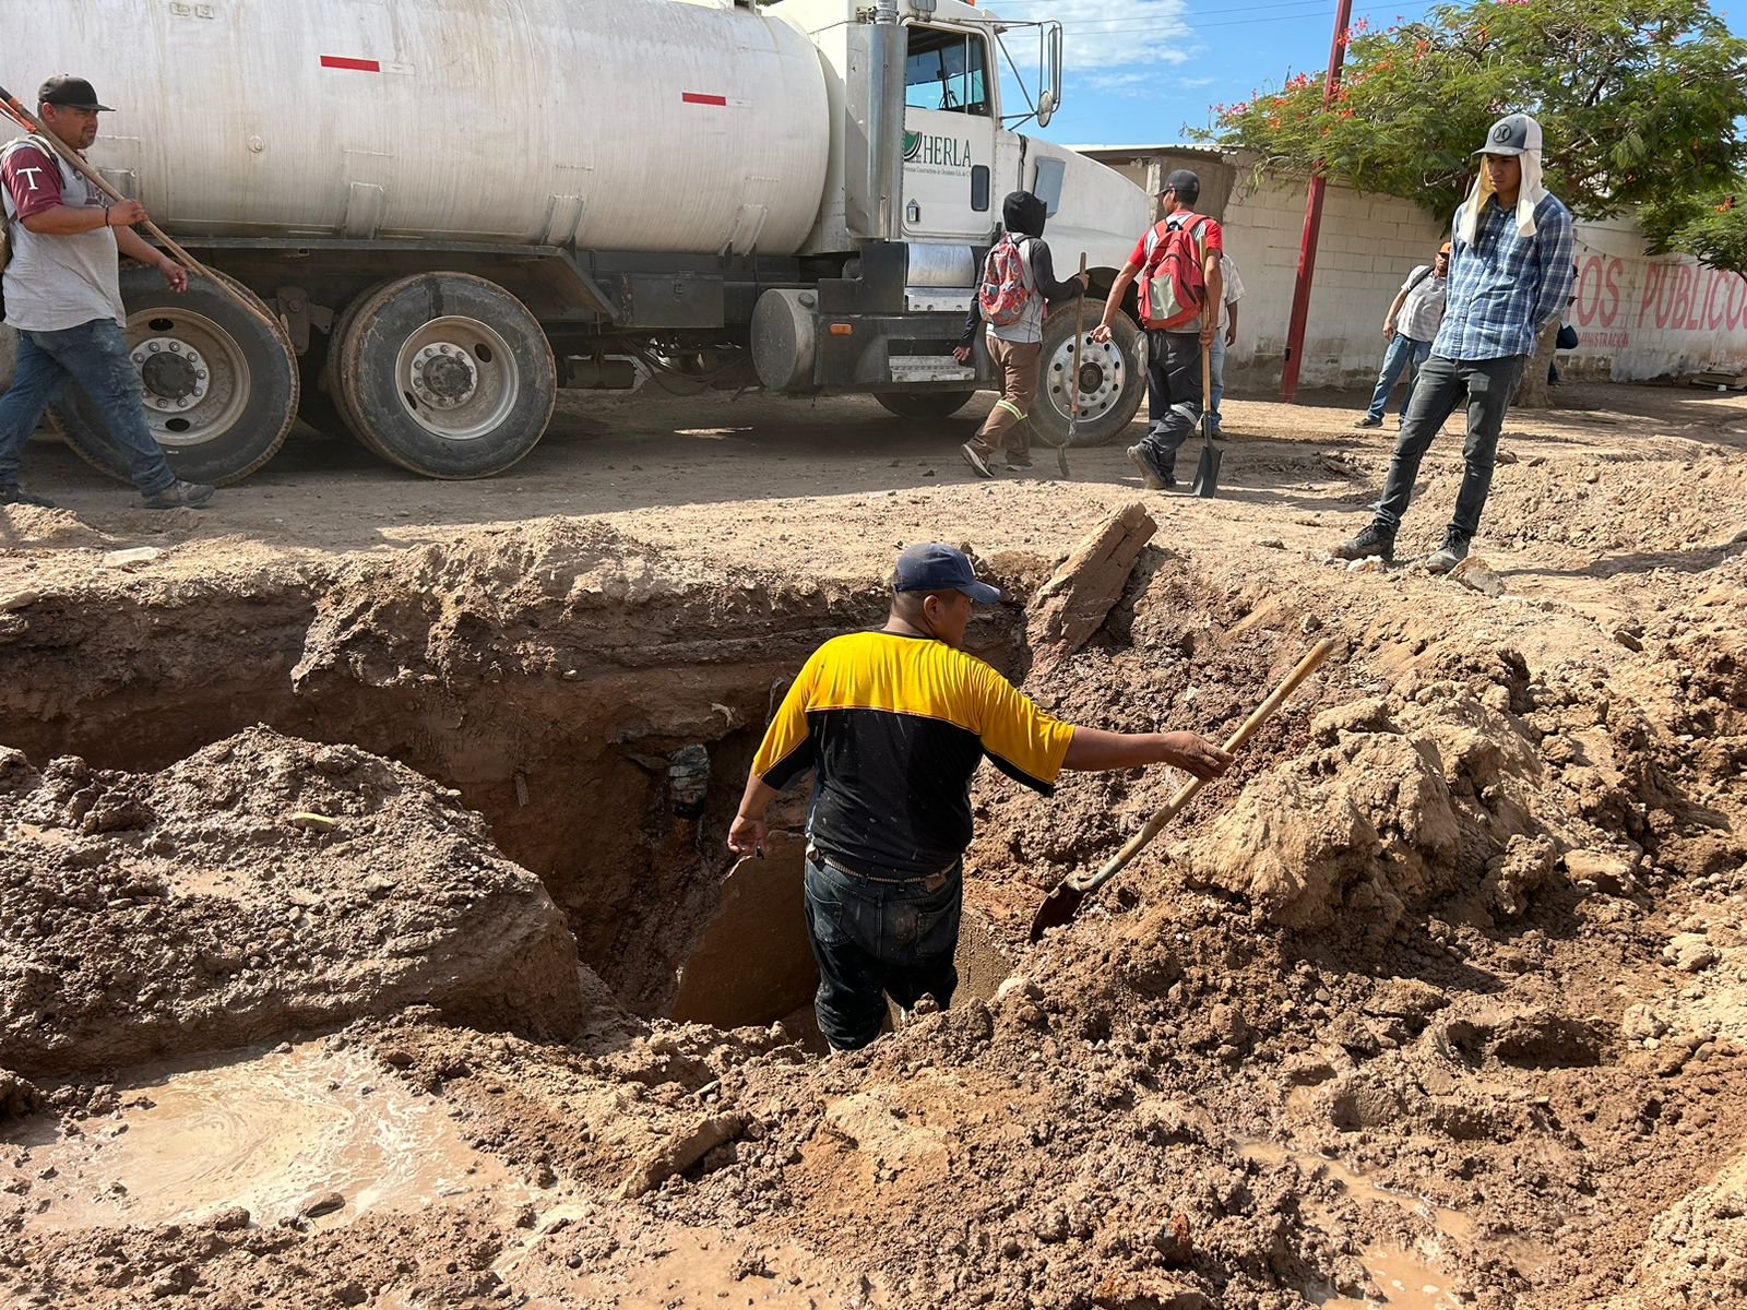
[[[879,1036],[886,997],[903,1010],[933,996],[945,1010],[959,985],[963,866],[938,884],[872,882],[807,852],[807,938],[819,964],[814,1011],[833,1050],[854,1051]]]

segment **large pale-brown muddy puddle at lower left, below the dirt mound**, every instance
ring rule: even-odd
[[[480,1191],[503,1205],[533,1195],[468,1148],[438,1102],[356,1051],[307,1043],[152,1065],[115,1093],[121,1111],[79,1121],[79,1135],[52,1114],[14,1125],[24,1149],[0,1176],[30,1181],[17,1200],[31,1224],[164,1224],[236,1205],[271,1224],[337,1193],[344,1205],[316,1219],[337,1226]]]

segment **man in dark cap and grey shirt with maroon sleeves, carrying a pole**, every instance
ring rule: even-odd
[[[65,73],[44,82],[37,101],[42,126],[79,154],[91,148],[98,114],[108,110],[87,80]],[[12,248],[5,318],[17,328],[17,372],[0,395],[0,505],[52,508],[19,489],[17,468],[24,442],[68,381],[84,388],[128,449],[128,472],[148,510],[204,505],[213,489],[178,479],[145,423],[140,370],[121,330],[121,255],[157,269],[178,292],[189,285],[180,264],[133,231],[145,208],[108,203],[37,136],[0,150],[0,204]]]

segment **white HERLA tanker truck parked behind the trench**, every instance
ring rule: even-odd
[[[0,82],[91,79],[117,108],[93,164],[269,311],[122,271],[148,421],[203,482],[299,416],[484,477],[561,386],[943,417],[994,381],[952,346],[1006,192],[1045,197],[1095,295],[1148,220],[1137,187],[1019,131],[1060,101],[1060,26],[959,0],[0,0],[0,30],[24,35]],[[1071,337],[1052,316],[1046,438]],[[1141,351],[1132,318],[1087,342],[1081,440],[1134,416]],[[82,395],[56,417],[124,472]]]

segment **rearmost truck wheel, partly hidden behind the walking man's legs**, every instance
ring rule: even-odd
[[[204,278],[171,292],[155,269],[121,274],[128,311],[122,335],[145,388],[145,421],[176,477],[229,486],[267,463],[297,417],[299,376],[292,339],[248,288],[227,286],[260,309],[246,313]],[[128,482],[128,456],[96,405],[77,386],[49,410],[94,468]]]

